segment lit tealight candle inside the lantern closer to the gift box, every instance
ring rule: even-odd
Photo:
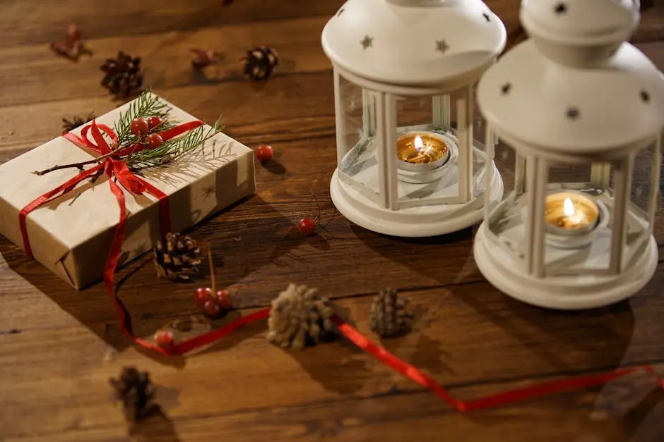
[[[396,140],[399,168],[404,171],[430,171],[446,163],[449,148],[444,138],[436,133],[406,133]]]

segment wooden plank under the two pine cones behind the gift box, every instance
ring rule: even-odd
[[[244,90],[245,94],[254,92],[261,89],[261,84],[242,78],[240,59],[247,54],[247,50],[261,44],[269,44],[279,51],[280,66],[275,76],[330,69],[331,64],[323,54],[320,43],[320,32],[325,23],[326,18],[299,18],[263,23],[257,27],[234,25],[188,32],[109,37],[90,41],[89,46],[95,54],[83,56],[78,63],[54,56],[44,45],[1,49],[0,60],[4,60],[0,63],[0,75],[4,78],[0,89],[3,97],[1,105],[108,96],[108,92],[100,86],[103,78],[100,66],[105,59],[114,58],[119,50],[141,56],[145,84],[155,90],[187,85],[219,87],[222,82],[242,81],[239,89]],[[191,67],[192,47],[212,47],[220,51],[220,63],[198,73]],[[238,85],[230,87],[237,88]],[[199,93],[205,92],[199,90]]]

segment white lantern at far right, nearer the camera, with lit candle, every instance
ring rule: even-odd
[[[658,261],[664,77],[625,42],[639,2],[524,0],[521,23],[531,39],[478,85],[487,137],[514,149],[514,190],[487,200],[475,261],[533,305],[623,300]]]

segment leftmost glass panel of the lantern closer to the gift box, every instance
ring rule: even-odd
[[[339,76],[342,109],[343,156],[338,164],[340,178],[367,197],[378,200],[379,165],[376,93]]]

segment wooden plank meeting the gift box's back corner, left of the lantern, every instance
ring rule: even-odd
[[[224,132],[247,145],[333,135],[332,73],[277,76],[260,88],[251,82],[155,89],[205,121],[222,117]],[[5,162],[61,134],[61,119],[99,115],[117,106],[109,97],[0,107],[0,161]]]

